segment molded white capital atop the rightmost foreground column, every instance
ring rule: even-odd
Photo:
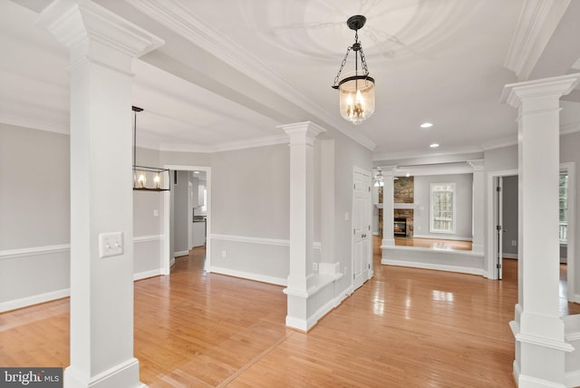
[[[523,101],[542,97],[561,96],[572,92],[580,81],[580,73],[565,74],[526,82],[508,83],[501,93],[500,102],[519,108]]]

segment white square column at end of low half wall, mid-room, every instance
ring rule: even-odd
[[[286,325],[307,331],[308,290],[314,285],[314,139],[325,130],[313,122],[280,126],[290,137],[290,272]]]

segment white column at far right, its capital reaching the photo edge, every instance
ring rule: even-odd
[[[564,323],[558,314],[559,99],[580,74],[506,85],[502,102],[518,112],[519,322],[512,323],[518,386],[565,386]],[[516,315],[517,319],[518,314]]]

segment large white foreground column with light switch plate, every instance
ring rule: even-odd
[[[70,51],[71,365],[64,386],[137,387],[133,357],[131,60],[162,44],[90,1],[38,20]],[[103,257],[107,234],[121,253]]]

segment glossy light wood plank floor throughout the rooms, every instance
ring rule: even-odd
[[[380,242],[380,241],[379,241]],[[513,387],[517,262],[504,280],[380,265],[308,334],[282,287],[202,271],[135,283],[135,356],[150,387]],[[571,313],[580,306],[561,304]],[[0,365],[69,364],[68,299],[0,315]]]

